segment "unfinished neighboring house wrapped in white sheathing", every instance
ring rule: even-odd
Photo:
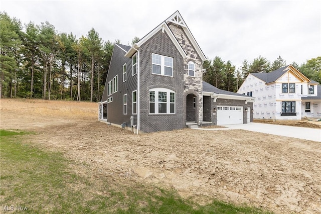
[[[321,118],[321,86],[292,65],[249,73],[237,92],[255,97],[255,119]]]

